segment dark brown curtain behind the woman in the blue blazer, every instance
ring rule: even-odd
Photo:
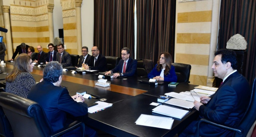
[[[137,0],[137,58],[151,59],[169,52],[174,59],[175,0]]]

